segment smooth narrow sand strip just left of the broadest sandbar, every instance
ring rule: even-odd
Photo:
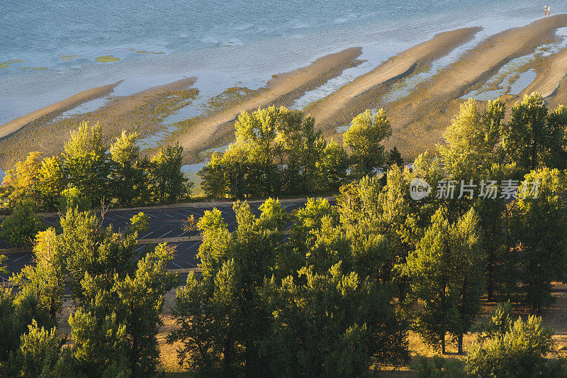
[[[461,28],[439,33],[432,39],[391,57],[371,72],[357,77],[353,82],[306,110],[315,117],[319,126],[325,125],[330,118],[343,110],[348,102],[355,97],[364,94],[373,87],[410,74],[417,65],[427,64],[446,55],[454,48],[471,40],[479,30],[481,30],[479,27]]]

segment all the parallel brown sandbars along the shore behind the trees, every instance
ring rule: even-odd
[[[342,133],[337,132],[338,126],[348,126],[352,117],[365,109],[384,107],[393,125],[393,136],[387,147],[396,145],[404,157],[415,157],[441,142],[442,130],[463,101],[461,96],[487,82],[507,62],[534,52],[550,40],[554,41],[556,30],[566,25],[567,15],[560,14],[488,38],[477,38],[478,44],[408,91],[408,94],[394,101],[383,101],[395,85],[427,70],[432,62],[471,42],[481,28],[458,28],[438,33],[430,40],[370,67],[331,94],[309,104],[304,111],[315,116],[318,127],[324,131],[327,139],[341,141]],[[534,81],[520,95],[507,94],[505,99],[514,101],[524,93],[540,91],[547,98],[546,101],[554,104],[564,102],[567,95],[566,58],[567,50],[541,58]],[[199,152],[230,143],[234,138],[233,122],[241,111],[271,105],[292,106],[293,101],[306,92],[322,87],[362,62],[363,49],[353,47],[320,57],[291,72],[274,73],[266,77],[264,86],[258,89],[244,88],[245,94],[242,96],[230,102],[225,101],[216,111],[187,120],[191,122],[179,126],[164,140],[168,143],[179,141],[186,151],[185,161],[195,162]],[[196,77],[128,96],[113,96],[112,92],[118,84],[120,82],[82,91],[4,123],[0,126],[0,166],[4,169],[11,167],[31,150],[40,150],[46,155],[60,152],[69,129],[76,127],[81,120],[101,122],[103,130],[111,136],[122,128],[138,131],[142,137],[152,135],[162,130],[164,118],[191,104],[200,91]],[[99,109],[57,118],[79,104],[105,96],[109,96],[108,101]]]

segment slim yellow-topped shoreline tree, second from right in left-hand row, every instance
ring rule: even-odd
[[[110,148],[111,192],[121,206],[130,207],[145,201],[147,162],[140,159],[140,147],[136,143],[139,135],[122,130]]]

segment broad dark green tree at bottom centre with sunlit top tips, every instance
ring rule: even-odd
[[[274,322],[262,345],[271,375],[359,377],[376,360],[407,356],[388,290],[356,272],[343,274],[341,265],[324,273],[304,267],[281,285],[266,279],[262,296]]]

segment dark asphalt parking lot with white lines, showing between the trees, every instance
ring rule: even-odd
[[[259,209],[261,203],[250,204],[250,207],[256,216],[259,216]],[[294,209],[299,209],[305,205],[305,201],[286,201],[282,203],[283,208],[289,213]],[[223,206],[214,206],[216,209],[220,210],[223,214],[223,219],[227,223],[230,231],[236,228],[236,216],[234,211],[232,211],[232,204],[227,203]],[[159,239],[162,242],[167,242],[170,245],[175,245],[176,256],[174,260],[169,263],[170,269],[187,269],[197,267],[197,252],[199,245],[201,245],[200,240],[194,240],[198,237],[199,231],[184,231],[183,225],[184,221],[190,216],[193,216],[196,220],[201,218],[205,211],[212,210],[213,206],[191,206],[188,204],[186,206],[171,206],[162,208],[152,208],[152,209],[116,209],[108,210],[103,217],[103,226],[108,226],[111,224],[113,229],[116,231],[124,230],[130,221],[130,218],[135,214],[142,211],[147,216],[150,217],[149,229],[145,233],[140,233],[138,239],[140,240],[156,240]],[[100,213],[98,213],[100,216]],[[59,223],[59,218],[57,214],[52,214],[44,218],[47,226],[55,226]],[[187,241],[187,237],[193,237]],[[175,240],[176,238],[184,238],[184,240]],[[174,240],[172,240],[174,239]],[[145,248],[152,248],[155,243],[138,245],[137,251],[142,252]],[[13,245],[0,245],[0,248],[13,248]],[[0,252],[1,255],[1,252]],[[6,265],[9,268],[10,273],[20,272],[25,265],[33,263],[33,254],[30,252],[22,253],[12,253],[7,256]],[[10,274],[8,274],[9,277]],[[4,276],[4,277],[3,277]],[[6,274],[0,275],[0,281],[2,279],[8,279]]]

